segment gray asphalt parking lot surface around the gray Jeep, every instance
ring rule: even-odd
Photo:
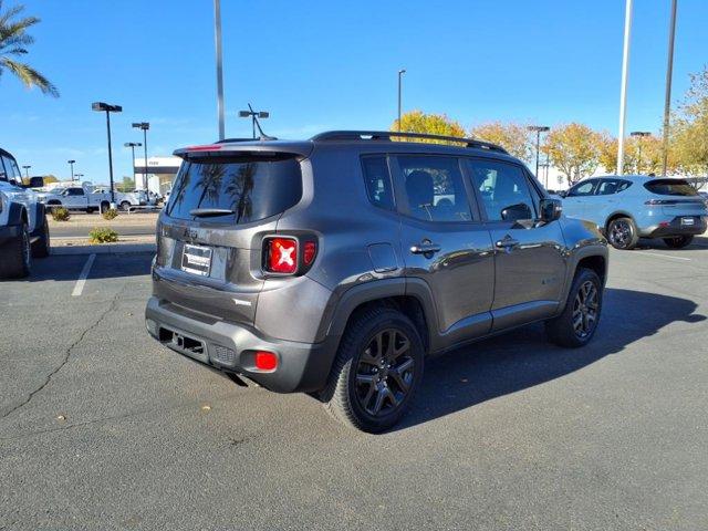
[[[434,360],[378,436],[150,340],[150,259],[0,283],[0,529],[708,529],[708,246],[613,251],[590,346]]]

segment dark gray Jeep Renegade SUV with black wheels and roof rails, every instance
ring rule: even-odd
[[[175,154],[146,326],[237,383],[381,431],[429,355],[534,321],[571,347],[596,330],[606,241],[499,146],[331,132]]]

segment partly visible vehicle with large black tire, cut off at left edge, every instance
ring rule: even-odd
[[[30,274],[32,258],[50,252],[49,223],[37,194],[22,186],[18,163],[0,149],[0,278]]]

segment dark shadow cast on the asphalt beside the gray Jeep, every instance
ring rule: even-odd
[[[393,430],[434,420],[581,369],[676,321],[698,323],[696,303],[631,290],[605,290],[601,324],[585,347],[561,348],[545,341],[542,324],[430,360],[412,409]],[[642,311],[637,311],[642,309]],[[611,323],[622,322],[621,331]]]

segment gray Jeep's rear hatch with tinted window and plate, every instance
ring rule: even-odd
[[[262,239],[300,201],[303,157],[225,150],[177,152],[185,162],[158,225],[154,290],[176,311],[252,324]]]

